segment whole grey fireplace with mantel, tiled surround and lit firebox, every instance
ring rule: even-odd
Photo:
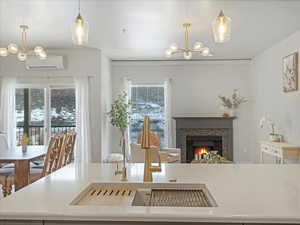
[[[176,147],[181,149],[181,162],[189,163],[195,153],[207,149],[233,160],[234,117],[174,117]]]

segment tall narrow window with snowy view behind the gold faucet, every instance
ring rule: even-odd
[[[131,85],[131,120],[130,140],[136,143],[143,129],[144,116],[150,117],[150,129],[160,137],[161,147],[167,145],[166,140],[166,105],[165,87],[163,85]]]

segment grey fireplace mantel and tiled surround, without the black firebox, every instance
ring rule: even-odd
[[[186,162],[187,136],[222,136],[224,156],[233,160],[233,120],[223,116],[175,116],[176,147],[181,149],[181,161]]]

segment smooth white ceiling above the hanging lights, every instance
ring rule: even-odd
[[[30,45],[72,47],[77,0],[0,0],[0,4],[1,45],[18,42],[18,26],[26,23]],[[191,42],[203,41],[217,59],[252,58],[300,29],[297,0],[82,0],[81,5],[90,24],[88,46],[113,59],[164,59],[171,43],[183,44],[184,22],[192,23]],[[221,9],[232,18],[232,40],[215,44],[211,21]]]

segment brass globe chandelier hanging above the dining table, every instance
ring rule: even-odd
[[[7,48],[0,48],[0,56],[6,57],[8,55],[17,54],[19,61],[23,62],[27,60],[28,56],[37,56],[41,60],[47,58],[47,53],[41,46],[36,46],[34,50],[29,50],[27,48],[27,30],[29,27],[27,25],[20,25],[21,29],[21,45],[20,48],[15,43],[10,43]],[[38,51],[36,51],[38,49]]]

